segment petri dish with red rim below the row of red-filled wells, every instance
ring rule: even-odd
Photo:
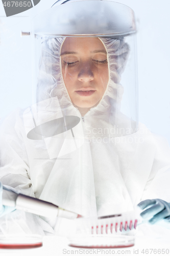
[[[135,244],[134,236],[127,235],[87,235],[77,234],[76,236],[69,237],[69,246],[83,247],[83,248],[123,248],[131,247]]]

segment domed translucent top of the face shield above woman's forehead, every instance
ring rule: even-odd
[[[33,33],[48,36],[127,35],[136,32],[134,12],[110,1],[68,2],[33,19]]]

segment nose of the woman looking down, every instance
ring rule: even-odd
[[[94,79],[92,67],[89,63],[84,63],[81,66],[78,74],[78,80],[81,82],[89,82]]]

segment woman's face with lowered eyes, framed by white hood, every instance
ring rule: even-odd
[[[102,41],[94,37],[67,37],[60,56],[71,101],[80,108],[97,104],[109,79],[107,52]]]

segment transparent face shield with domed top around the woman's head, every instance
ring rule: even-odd
[[[87,118],[98,135],[119,137],[138,130],[135,24],[129,7],[68,2],[38,14],[32,34],[34,103],[58,99],[61,111],[75,108],[74,115]]]

